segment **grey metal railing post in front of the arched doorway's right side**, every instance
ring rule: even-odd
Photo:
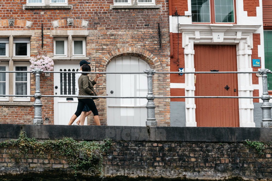
[[[154,95],[153,95],[153,83],[152,83],[152,76],[155,74],[155,70],[147,69],[144,70],[144,73],[147,74],[147,86],[148,86],[148,93],[147,93],[147,121],[146,126],[157,126],[157,121],[155,118],[155,104],[154,104]]]

